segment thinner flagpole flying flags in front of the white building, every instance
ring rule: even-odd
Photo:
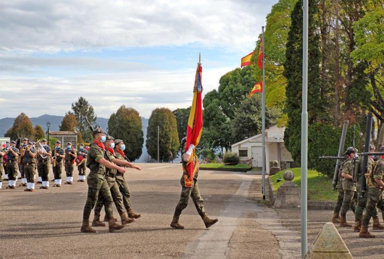
[[[263,137],[263,142],[262,142],[262,149],[263,149],[263,170],[262,170],[262,184],[263,184],[263,200],[266,199],[266,98],[265,98],[265,89],[266,89],[266,82],[265,82],[265,53],[264,53],[264,26],[262,26],[262,41],[263,41],[263,95],[262,95],[262,137]]]

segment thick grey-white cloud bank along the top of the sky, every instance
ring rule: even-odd
[[[270,0],[3,1],[0,51],[58,52],[194,43],[249,49],[271,5]]]

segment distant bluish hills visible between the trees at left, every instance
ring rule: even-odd
[[[39,124],[41,127],[43,127],[44,131],[47,131],[46,123],[48,121],[51,124],[49,127],[49,130],[58,130],[58,127],[61,124],[61,121],[63,118],[64,118],[63,116],[44,114],[44,115],[41,115],[39,117],[29,118],[29,119],[31,120],[33,127],[36,124]],[[148,127],[148,119],[141,117],[141,120],[143,123],[144,146],[143,146],[143,154],[140,156],[139,159],[136,160],[136,162],[144,162],[144,158],[148,154],[147,148],[145,147],[146,136],[147,136],[147,127]],[[14,121],[15,121],[15,118],[0,119],[0,137],[4,136],[4,134],[7,132],[7,130],[12,127]],[[96,120],[96,123],[98,125],[100,125],[100,127],[104,130],[106,130],[108,127],[108,119],[106,119],[106,118],[98,117]]]

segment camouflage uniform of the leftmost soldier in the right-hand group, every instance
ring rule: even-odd
[[[353,175],[353,161],[351,158],[346,159],[343,162],[342,172],[350,176]],[[353,197],[356,192],[356,186],[352,179],[343,178],[344,199],[341,205],[340,216],[345,217],[347,211],[351,208],[353,203]]]

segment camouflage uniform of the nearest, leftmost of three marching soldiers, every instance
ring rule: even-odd
[[[103,199],[105,215],[113,217],[112,196],[107,181],[104,178],[105,166],[98,161],[104,157],[104,151],[96,143],[92,143],[87,158],[87,167],[90,173],[87,177],[88,197],[84,206],[83,221],[88,221],[91,211],[99,197]]]

